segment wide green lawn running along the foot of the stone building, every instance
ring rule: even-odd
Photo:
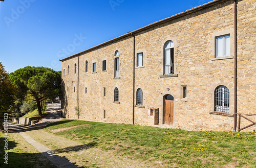
[[[83,126],[61,130],[77,125]],[[256,167],[255,132],[196,132],[69,119],[44,130],[115,155],[147,160],[152,166],[162,162],[164,167]]]

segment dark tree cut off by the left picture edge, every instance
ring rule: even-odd
[[[9,80],[9,74],[0,62],[0,118],[4,113],[11,114],[15,102],[16,88]]]

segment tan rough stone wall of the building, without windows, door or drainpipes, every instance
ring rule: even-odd
[[[254,16],[255,1],[239,1],[238,112],[242,113],[256,113]],[[230,57],[215,59],[215,37],[225,34],[230,34]],[[185,130],[233,129],[233,1],[181,16],[135,35],[135,53],[143,53],[143,66],[135,69],[135,93],[138,88],[143,91],[143,106],[135,107],[135,124],[149,125],[150,107],[159,108],[159,124],[163,124],[163,97],[171,94],[174,97],[174,127]],[[163,77],[164,44],[168,40],[174,42],[176,76]],[[120,53],[120,79],[114,79],[116,50]],[[89,62],[88,73],[85,73],[86,60]],[[106,60],[105,72],[102,71],[102,60]],[[96,62],[97,73],[92,73],[93,62]],[[77,88],[77,74],[74,75],[74,63],[78,63],[78,57],[62,62],[66,74],[70,65],[70,75],[62,77],[67,93],[66,106],[63,105],[62,111],[68,118],[76,118],[74,106],[77,106],[77,92],[73,87]],[[79,56],[80,119],[132,124],[132,84],[132,36]],[[228,87],[230,92],[230,110],[226,116],[214,112],[214,91],[219,85]],[[181,97],[182,86],[187,87],[186,99]],[[106,88],[106,97],[103,97],[103,87]],[[120,104],[113,103],[115,87],[119,89]],[[106,112],[105,119],[103,110]],[[252,129],[255,127],[247,130]]]

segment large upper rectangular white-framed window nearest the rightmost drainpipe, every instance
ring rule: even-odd
[[[230,56],[230,35],[216,37],[216,57]]]

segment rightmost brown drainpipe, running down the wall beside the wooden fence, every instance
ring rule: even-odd
[[[237,131],[237,2],[234,0],[234,131]]]

